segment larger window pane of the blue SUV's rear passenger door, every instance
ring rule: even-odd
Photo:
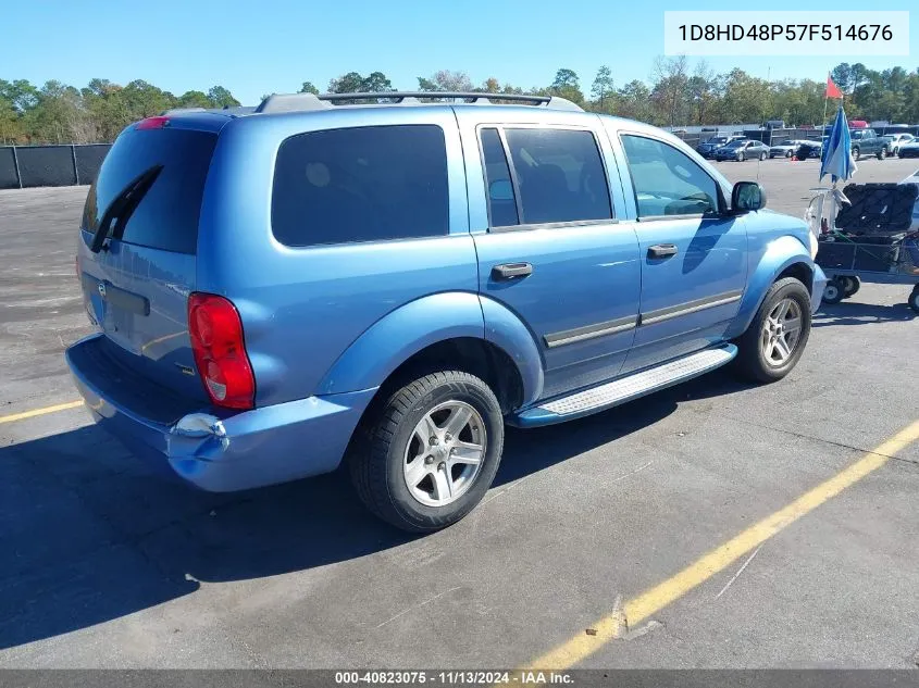
[[[609,187],[593,134],[506,128],[505,136],[524,224],[612,217]]]

